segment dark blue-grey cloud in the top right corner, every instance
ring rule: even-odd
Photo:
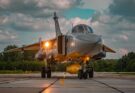
[[[122,16],[124,19],[135,21],[135,0],[113,0],[109,6],[109,12]]]

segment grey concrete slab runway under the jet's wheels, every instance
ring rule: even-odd
[[[95,73],[93,79],[53,73],[42,79],[40,74],[0,75],[0,93],[135,93],[135,76]],[[112,77],[111,77],[112,76]]]

